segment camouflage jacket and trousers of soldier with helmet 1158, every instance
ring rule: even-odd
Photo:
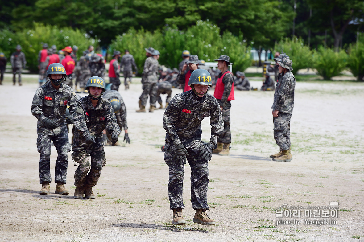
[[[67,105],[72,114],[78,99],[71,87],[60,84],[56,90],[51,82],[39,87],[35,92],[32,102],[32,114],[38,119],[37,123],[37,148],[40,153],[39,178],[40,184],[52,181],[50,171],[51,141],[57,149],[58,157],[55,167],[55,182],[66,184],[68,157],[71,145],[68,142],[67,126],[64,119]],[[58,127],[49,130],[43,124],[44,119],[51,119]]]

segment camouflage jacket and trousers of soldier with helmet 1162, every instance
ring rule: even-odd
[[[100,178],[102,167],[106,164],[102,134],[106,130],[113,134],[120,134],[116,123],[114,109],[109,100],[100,98],[96,107],[91,103],[90,96],[81,98],[74,112],[74,125],[76,127],[72,158],[79,163],[75,171],[75,186],[93,187]],[[87,145],[84,134],[89,133],[96,143]],[[91,170],[88,156],[91,156]],[[90,172],[87,174],[87,172]]]

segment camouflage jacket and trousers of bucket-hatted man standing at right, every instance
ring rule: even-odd
[[[280,150],[289,150],[290,142],[290,120],[294,106],[294,87],[296,79],[292,72],[287,71],[279,75],[276,91],[274,92],[273,111],[278,111],[278,117],[273,117],[273,135]]]

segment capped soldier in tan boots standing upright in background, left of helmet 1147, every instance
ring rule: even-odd
[[[143,73],[142,73],[142,84],[143,92],[139,97],[139,110],[137,112],[145,112],[145,106],[147,104],[147,99],[149,95],[150,110],[153,112],[155,110],[155,99],[157,97],[157,72],[159,63],[156,59],[158,55],[154,48],[145,49],[147,59],[144,63]]]

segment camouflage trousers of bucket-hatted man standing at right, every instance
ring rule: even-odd
[[[273,117],[273,135],[280,150],[289,150],[291,147],[290,128],[292,114],[278,112],[278,117]]]

